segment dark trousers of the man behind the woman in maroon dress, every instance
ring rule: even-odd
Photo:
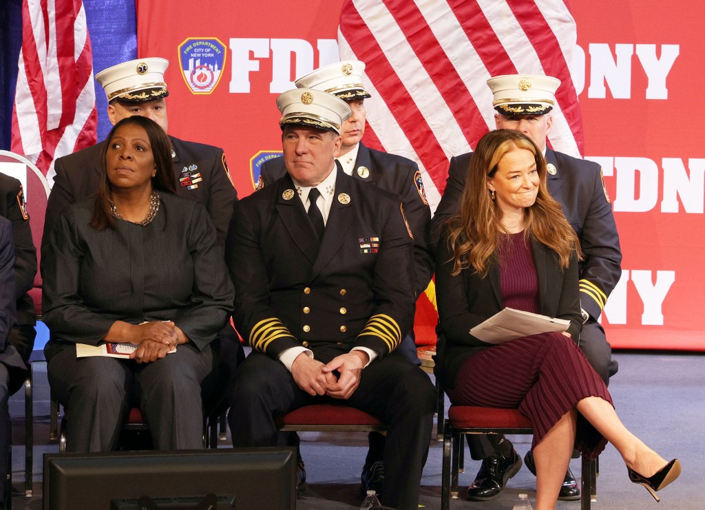
[[[607,342],[605,330],[599,322],[589,318],[587,323],[582,325],[578,346],[597,375],[605,385],[609,385],[610,378],[617,373],[619,366],[617,361],[612,359],[612,347]],[[470,456],[476,461],[486,459],[494,454],[496,445],[503,439],[504,436],[501,434],[468,435],[467,443],[470,444]]]

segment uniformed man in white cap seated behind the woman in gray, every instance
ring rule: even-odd
[[[169,93],[164,82],[164,72],[168,64],[165,58],[138,58],[102,70],[96,75],[96,80],[103,86],[108,98],[111,123],[139,115],[151,118],[167,132],[166,97]],[[177,193],[206,208],[216,227],[218,240],[224,246],[233,203],[238,199],[238,194],[223,149],[186,142],[172,136],[169,136],[169,140]],[[54,162],[56,175],[47,202],[42,252],[47,249],[49,234],[59,221],[63,208],[97,191],[104,166],[101,154],[106,143],[104,140]],[[220,349],[217,358],[223,362],[216,361],[220,370],[214,371],[204,382],[204,395],[212,394],[215,388],[226,385],[237,363],[245,357],[238,336],[230,324],[221,331],[220,339],[220,345],[216,347]],[[216,405],[209,399],[206,402],[207,409]]]

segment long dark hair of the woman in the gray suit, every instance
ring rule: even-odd
[[[168,193],[176,193],[176,176],[173,172],[173,163],[171,161],[171,141],[166,136],[166,132],[155,123],[154,120],[142,117],[131,116],[125,117],[118,122],[110,130],[105,139],[105,146],[101,153],[102,178],[100,187],[95,194],[93,203],[93,215],[90,221],[90,226],[95,230],[104,230],[105,228],[115,228],[115,220],[110,213],[110,196],[111,183],[108,179],[107,172],[107,154],[110,148],[110,141],[115,136],[118,129],[124,125],[137,125],[147,132],[149,145],[152,148],[152,157],[154,157],[154,166],[157,168],[157,173],[152,178],[152,189]]]

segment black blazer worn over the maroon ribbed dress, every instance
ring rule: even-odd
[[[503,309],[499,266],[491,263],[486,278],[473,269],[452,276],[452,251],[445,240],[439,244],[436,259],[436,299],[441,318],[441,338],[436,349],[436,375],[446,387],[455,387],[465,360],[492,344],[470,335],[470,328]],[[582,329],[580,295],[577,285],[577,257],[561,271],[556,252],[532,241],[534,263],[539,278],[539,313],[570,320],[568,332],[578,342]]]

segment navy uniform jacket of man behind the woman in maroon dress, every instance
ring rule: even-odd
[[[443,223],[460,206],[472,153],[450,160],[446,190],[431,221],[431,240],[439,242]],[[580,262],[580,303],[597,318],[622,274],[619,236],[600,166],[546,149],[546,161],[556,166],[548,174],[548,192],[563,208],[568,223],[580,239],[584,260]]]

